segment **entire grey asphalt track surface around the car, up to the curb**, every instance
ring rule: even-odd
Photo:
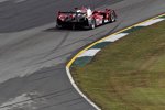
[[[85,45],[165,12],[165,0],[91,1],[0,0],[0,110],[95,110],[73,88],[66,63]],[[55,29],[55,12],[90,4],[116,9],[118,21]]]

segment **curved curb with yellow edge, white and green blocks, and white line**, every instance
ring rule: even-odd
[[[110,45],[112,43],[114,43],[116,41],[124,37],[124,36],[128,36],[130,33],[132,32],[135,32],[142,28],[146,28],[146,26],[150,26],[152,24],[155,24],[155,23],[158,23],[161,21],[164,21],[165,20],[165,14],[161,14],[158,16],[155,16],[155,18],[152,18],[152,19],[148,19],[144,22],[141,22],[141,23],[138,23],[138,24],[134,24],[132,26],[129,26],[124,30],[121,30],[114,34],[111,34],[109,36],[106,36],[92,44],[90,44],[89,46],[87,46],[86,48],[84,48],[82,51],[80,51],[77,55],[75,55],[75,57],[73,57],[69,63],[67,64],[66,66],[66,70],[67,70],[67,74],[68,74],[68,77],[73,84],[73,86],[76,88],[76,90],[89,102],[91,103],[97,110],[101,110],[101,108],[105,108],[105,107],[101,107],[102,105],[100,105],[99,102],[97,102],[97,100],[94,100],[95,102],[97,102],[99,105],[99,108],[97,105],[95,105],[95,102],[92,102],[87,96],[84,95],[84,92],[86,91],[80,91],[80,89],[77,87],[72,74],[75,73],[73,70],[73,73],[70,74],[70,67],[85,67],[88,63],[91,62],[91,59],[94,58],[94,56],[101,51],[101,48],[103,48],[105,46],[107,45]],[[152,36],[151,36],[152,37]],[[88,73],[88,70],[86,70],[86,73]],[[125,108],[127,109],[127,108]],[[107,110],[107,109],[106,109]]]

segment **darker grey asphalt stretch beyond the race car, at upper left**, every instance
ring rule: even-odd
[[[15,32],[54,22],[57,11],[89,6],[91,1],[92,0],[6,0],[6,2],[0,3],[0,32]],[[101,3],[100,0],[95,0],[91,8],[102,4],[113,4],[119,1],[123,0],[102,0]]]

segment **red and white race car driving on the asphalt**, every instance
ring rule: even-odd
[[[75,8],[74,11],[58,12],[56,28],[88,28],[92,30],[116,20],[117,13],[111,9],[91,11],[90,8]]]

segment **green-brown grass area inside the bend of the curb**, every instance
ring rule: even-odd
[[[72,73],[102,110],[165,110],[165,22],[106,46]]]

